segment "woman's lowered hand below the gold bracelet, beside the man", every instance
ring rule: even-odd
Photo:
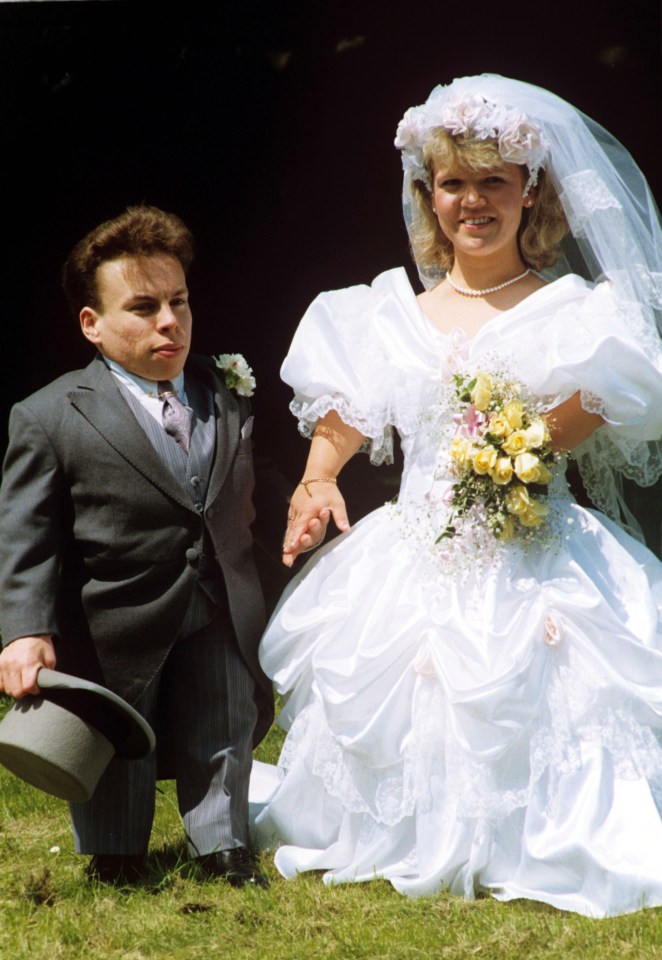
[[[286,567],[291,567],[300,553],[321,543],[331,517],[341,533],[349,530],[347,508],[336,484],[329,480],[300,483],[292,495],[288,511],[283,543]]]

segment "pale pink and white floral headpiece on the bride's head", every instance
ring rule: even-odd
[[[464,93],[447,99],[446,90],[438,87],[426,103],[410,107],[398,124],[395,146],[402,150],[402,165],[412,180],[422,180],[431,187],[423,165],[423,146],[430,131],[442,127],[451,136],[460,134],[486,140],[497,140],[499,156],[507,163],[526,164],[529,179],[526,194],[535,186],[538,172],[549,153],[549,144],[521,111],[500,106],[478,93]]]

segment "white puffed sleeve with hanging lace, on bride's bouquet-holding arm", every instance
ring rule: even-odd
[[[573,451],[593,502],[614,519],[623,511],[618,475],[650,486],[662,475],[662,346],[637,304],[598,284],[549,319],[539,391],[550,406],[579,392],[605,420]],[[531,358],[533,362],[533,358]]]

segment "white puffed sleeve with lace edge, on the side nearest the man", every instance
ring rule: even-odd
[[[335,410],[366,437],[373,463],[393,459],[388,383],[391,372],[375,323],[378,295],[356,286],[320,294],[304,314],[281,369],[294,390],[290,405],[304,436]]]

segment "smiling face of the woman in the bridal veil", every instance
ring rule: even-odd
[[[487,257],[517,253],[524,171],[515,163],[472,171],[466,167],[434,167],[432,206],[455,256]]]

